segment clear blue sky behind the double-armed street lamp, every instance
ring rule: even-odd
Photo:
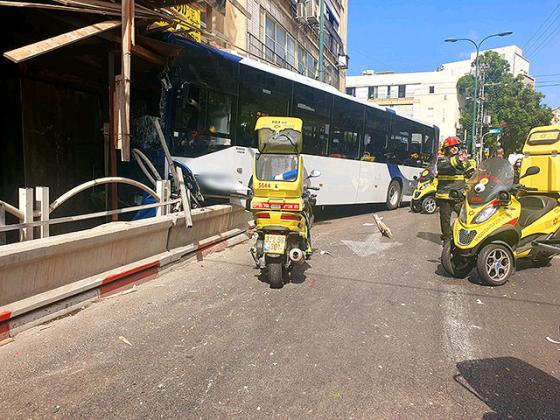
[[[517,45],[530,61],[543,103],[560,106],[560,0],[348,0],[348,75],[365,69],[398,73],[434,71],[466,60],[471,38],[491,38],[482,49]],[[556,86],[550,86],[556,85]]]

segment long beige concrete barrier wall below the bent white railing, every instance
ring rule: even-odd
[[[176,261],[246,231],[252,218],[230,205],[195,209],[192,216],[191,229],[183,216],[172,214],[0,247],[0,323],[52,304],[56,296],[68,298]]]

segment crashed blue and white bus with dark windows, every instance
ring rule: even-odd
[[[317,205],[386,203],[396,208],[413,177],[433,164],[439,132],[334,87],[200,44],[172,67],[165,131],[173,158],[199,177],[224,174],[250,184],[257,118],[303,120],[306,170],[321,171]]]

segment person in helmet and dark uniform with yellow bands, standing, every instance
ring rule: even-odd
[[[461,143],[457,137],[448,137],[444,140],[443,156],[437,161],[436,200],[439,205],[439,221],[441,226],[441,240],[450,241],[453,238],[451,229],[451,214],[457,210],[457,200],[449,197],[451,190],[463,191],[465,189],[466,174],[470,172],[470,163],[464,155],[459,154]]]

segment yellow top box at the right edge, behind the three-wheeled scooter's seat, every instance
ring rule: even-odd
[[[525,157],[521,164],[521,174],[531,166],[540,172],[522,180],[522,184],[536,188],[538,192],[560,192],[560,126],[551,125],[531,130],[523,147]]]

